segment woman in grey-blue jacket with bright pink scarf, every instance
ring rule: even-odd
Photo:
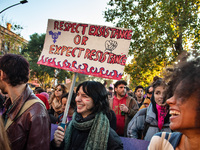
[[[169,111],[164,103],[165,84],[162,79],[153,83],[153,95],[149,107],[143,108],[130,121],[127,135],[150,141],[157,132],[171,132]]]

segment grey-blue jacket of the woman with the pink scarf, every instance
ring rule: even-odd
[[[154,95],[152,95],[149,107],[139,110],[130,121],[127,134],[128,137],[131,138],[144,138],[144,140],[150,141],[155,133],[163,131],[171,132],[171,129],[169,128],[169,113],[167,113],[164,120],[164,125],[160,130],[158,128],[156,102],[154,100]],[[145,135],[143,135],[144,132]]]

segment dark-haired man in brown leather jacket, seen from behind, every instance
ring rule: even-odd
[[[28,80],[29,63],[24,57],[5,54],[0,58],[0,89],[9,97],[4,103],[3,119],[11,149],[48,150],[49,116],[44,103],[28,86]]]

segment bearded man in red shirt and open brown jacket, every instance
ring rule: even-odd
[[[126,136],[128,123],[138,111],[137,102],[126,93],[126,85],[124,80],[117,81],[114,84],[115,95],[109,100],[117,118],[116,132],[119,136]]]

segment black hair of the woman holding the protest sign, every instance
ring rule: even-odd
[[[91,97],[94,102],[94,107],[91,109],[92,113],[109,113],[108,93],[103,84],[96,81],[85,81],[78,85],[76,93],[80,87],[83,88],[83,92]]]

